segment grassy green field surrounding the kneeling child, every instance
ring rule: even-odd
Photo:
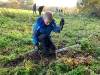
[[[53,15],[57,25],[63,15],[65,19],[64,29],[51,34],[56,48],[75,44],[82,48],[70,49],[46,64],[23,58],[34,51],[32,28],[39,15],[0,8],[0,75],[100,75],[100,19],[68,13]]]

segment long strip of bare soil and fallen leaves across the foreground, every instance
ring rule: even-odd
[[[24,59],[31,60],[34,63],[42,62],[44,63],[44,65],[48,65],[50,62],[56,61],[56,57],[59,57],[59,58],[64,57],[64,61],[71,59],[71,61],[74,60],[74,62],[76,63],[81,60],[82,63],[84,62],[85,64],[91,64],[89,59],[91,57],[94,57],[94,54],[71,50],[71,49],[68,49],[68,50],[64,49],[64,50],[58,51],[56,54],[46,56],[46,55],[40,54],[40,52],[32,51],[32,52],[24,54],[23,56],[19,56],[16,59],[10,60],[5,67],[18,66],[19,64],[23,62]]]

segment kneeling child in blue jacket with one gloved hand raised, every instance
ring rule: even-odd
[[[60,24],[64,21],[60,21]],[[51,41],[51,31],[60,32],[60,27],[56,26],[56,23],[53,19],[52,13],[50,11],[45,12],[43,17],[39,17],[36,20],[36,23],[33,27],[33,43],[35,45],[35,50],[38,51],[39,42],[43,47],[43,54],[51,55],[51,52],[55,52],[55,45]]]

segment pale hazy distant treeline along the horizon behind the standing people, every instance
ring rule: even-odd
[[[7,2],[3,2],[0,0],[0,7],[4,8],[15,8],[15,9],[27,9],[27,10],[32,10],[33,5],[34,5],[34,0],[8,0]],[[38,10],[39,6],[36,6],[36,9]],[[47,7],[44,5],[44,11],[49,10],[49,11],[55,11],[57,7]],[[73,8],[68,8],[68,7],[58,7],[59,11],[63,10],[63,12],[71,12],[71,10],[76,10],[76,7]]]

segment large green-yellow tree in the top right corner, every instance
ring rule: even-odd
[[[78,0],[77,7],[81,14],[100,18],[100,0]]]

